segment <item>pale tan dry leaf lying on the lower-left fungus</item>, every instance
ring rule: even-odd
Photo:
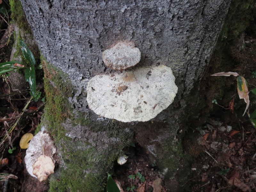
[[[36,175],[40,182],[46,180],[49,175],[54,173],[54,163],[52,158],[46,155],[41,155],[33,164],[33,174]]]

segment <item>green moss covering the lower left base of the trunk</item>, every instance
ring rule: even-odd
[[[51,176],[50,191],[104,191],[106,172],[112,168],[117,156],[123,153],[122,149],[131,143],[132,132],[124,132],[126,125],[119,122],[113,121],[106,125],[105,122],[86,119],[91,114],[77,112],[69,104],[68,97],[73,96],[75,90],[67,74],[54,68],[44,58],[42,66],[47,99],[43,125],[51,132],[60,149],[58,163],[62,167]],[[85,141],[71,139],[66,136],[64,124],[68,124],[68,127],[81,127],[79,131],[87,132],[95,138],[90,140],[88,136]],[[101,134],[105,134],[107,139],[116,137],[120,141],[106,143],[106,138],[98,138]],[[95,144],[92,143],[94,141]]]

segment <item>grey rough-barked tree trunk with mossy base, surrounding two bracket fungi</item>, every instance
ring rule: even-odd
[[[49,62],[43,61],[47,106],[41,127],[54,137],[60,164],[51,191],[104,190],[106,172],[133,141],[157,160],[168,183],[180,158],[175,138],[187,96],[204,75],[230,2],[21,0]],[[124,40],[139,48],[139,67],[165,65],[176,78],[174,102],[152,121],[122,123],[88,108],[88,81],[115,73],[102,52]]]

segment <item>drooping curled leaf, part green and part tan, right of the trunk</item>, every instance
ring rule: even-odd
[[[236,80],[237,80],[237,92],[238,92],[239,98],[244,99],[244,102],[246,103],[246,108],[244,110],[244,114],[245,114],[246,110],[249,107],[249,103],[250,103],[247,82],[246,82],[245,78],[241,77],[241,76],[237,77]],[[243,116],[244,116],[244,114],[243,114]]]

